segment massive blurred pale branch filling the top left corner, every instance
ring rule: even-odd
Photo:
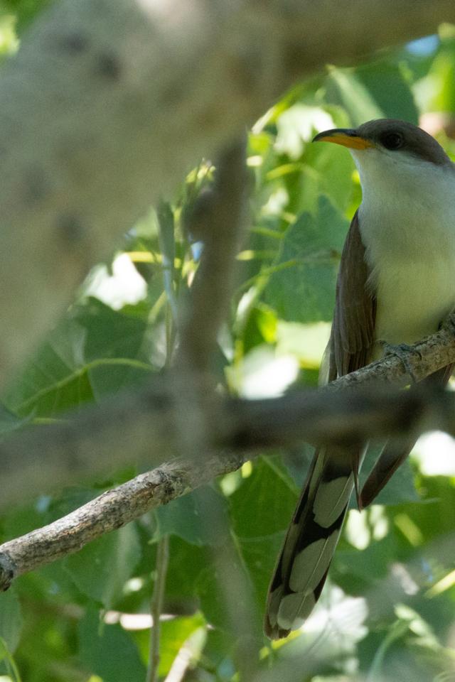
[[[440,21],[452,0],[56,3],[0,76],[1,383],[200,156],[325,63]]]

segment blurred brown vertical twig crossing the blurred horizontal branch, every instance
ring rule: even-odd
[[[204,244],[195,281],[191,287],[191,303],[181,329],[181,345],[177,364],[183,372],[197,376],[209,374],[216,347],[218,330],[225,320],[235,278],[235,255],[240,247],[245,222],[248,176],[246,167],[246,132],[232,144],[216,164],[215,183],[200,194],[187,219],[188,234]],[[189,372],[188,372],[189,370]],[[196,391],[188,385],[183,400],[194,401]],[[182,405],[183,413],[186,405]],[[181,429],[181,432],[183,430]],[[200,456],[210,450],[204,423],[191,429],[186,439],[189,455]],[[220,601],[224,602],[233,632],[237,632],[237,668],[241,681],[250,680],[255,659],[250,655],[252,633],[255,632],[255,605],[250,585],[238,563],[235,543],[225,527],[226,520],[218,500],[205,509],[203,523],[218,530],[225,542],[210,547],[211,561],[216,566]],[[232,595],[236,595],[232,600]]]

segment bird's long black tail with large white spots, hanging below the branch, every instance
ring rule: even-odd
[[[360,457],[332,447],[314,456],[269,586],[264,632],[270,639],[301,627],[321,595]]]

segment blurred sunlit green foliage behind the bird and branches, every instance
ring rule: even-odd
[[[43,0],[1,3],[0,50],[18,48]],[[18,28],[17,28],[18,27]],[[360,202],[347,151],[316,132],[378,117],[420,123],[455,158],[455,28],[441,26],[356,67],[327,66],[253,126],[250,225],[219,336],[220,387],[243,396],[314,386],[336,272]],[[202,160],[173,197],[93,269],[4,396],[4,433],[97,403],[159,372],[200,256],[186,218],[213,182]],[[0,595],[0,680],[139,682],[149,656],[156,543],[170,538],[159,673],[167,682],[244,679],[382,682],[455,679],[455,460],[423,438],[378,504],[351,510],[328,585],[301,632],[262,635],[269,576],[311,457],[266,453],[146,514]],[[58,519],[137,473],[38,497],[1,519],[1,540]],[[3,676],[1,676],[3,675]]]

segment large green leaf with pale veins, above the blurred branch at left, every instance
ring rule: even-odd
[[[131,310],[132,306],[128,307]],[[96,298],[75,307],[11,386],[5,404],[19,416],[53,417],[149,376],[146,317]]]

